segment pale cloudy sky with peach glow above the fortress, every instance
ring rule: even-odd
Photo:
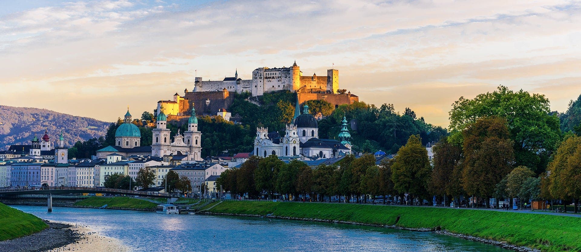
[[[564,112],[581,94],[579,1],[0,0],[0,104],[112,122],[259,67],[339,70],[360,101],[448,126],[498,85]]]

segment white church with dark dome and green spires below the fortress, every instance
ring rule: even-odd
[[[286,126],[285,136],[278,132],[268,133],[267,128],[256,129],[254,138],[254,155],[257,156],[305,156],[308,158],[336,158],[351,153],[351,143],[347,120],[343,117],[342,129],[339,133],[341,141],[319,138],[317,119],[309,112],[309,106],[303,106],[300,114],[299,101],[295,106],[293,123]]]

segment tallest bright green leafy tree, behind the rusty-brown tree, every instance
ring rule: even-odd
[[[517,165],[535,167],[537,174],[545,170],[561,131],[559,119],[551,114],[549,100],[544,95],[523,90],[513,92],[498,86],[498,90],[479,94],[472,100],[460,97],[450,111],[450,128],[462,132],[486,116],[506,119],[510,132],[507,138],[514,141]]]

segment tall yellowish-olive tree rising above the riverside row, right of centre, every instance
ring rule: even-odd
[[[412,196],[427,196],[432,167],[428,160],[428,151],[422,146],[419,136],[410,136],[394,159],[391,166],[394,189]]]

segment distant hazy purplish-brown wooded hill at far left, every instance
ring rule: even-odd
[[[69,146],[77,141],[104,136],[109,123],[88,117],[62,114],[48,109],[21,108],[0,105],[0,150],[11,144],[30,144],[48,130],[51,141],[61,131]]]

